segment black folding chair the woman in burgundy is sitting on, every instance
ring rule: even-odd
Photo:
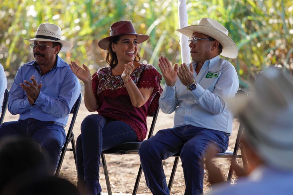
[[[159,108],[154,113],[153,121],[151,123],[151,127],[149,130],[149,135],[147,137],[148,139],[153,136],[158,113],[159,113]],[[142,144],[142,142],[126,142],[126,143],[122,143],[118,146],[115,146],[114,148],[111,148],[109,150],[102,151],[101,159],[102,159],[102,163],[103,163],[105,180],[106,180],[107,190],[108,190],[109,195],[112,195],[112,191],[111,191],[111,185],[110,185],[110,180],[109,180],[109,175],[108,175],[105,154],[138,154],[138,149],[141,146],[141,144]],[[142,176],[142,166],[140,165],[139,171],[138,171],[138,174],[136,177],[136,181],[134,184],[134,189],[133,189],[132,195],[135,195],[137,193],[137,189],[138,189],[138,185],[139,185],[139,181],[140,181],[141,176]]]

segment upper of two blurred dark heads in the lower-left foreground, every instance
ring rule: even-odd
[[[21,175],[49,175],[48,162],[33,141],[9,137],[0,141],[0,192]],[[17,183],[16,183],[17,184]]]

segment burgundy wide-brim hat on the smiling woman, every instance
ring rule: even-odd
[[[100,40],[98,45],[100,48],[107,50],[110,40],[114,37],[122,35],[136,35],[138,44],[146,41],[149,38],[148,35],[137,34],[130,21],[120,21],[111,25],[110,36]]]

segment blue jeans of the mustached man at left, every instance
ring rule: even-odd
[[[0,139],[6,136],[20,136],[38,143],[49,157],[52,173],[55,172],[66,140],[62,126],[37,119],[11,121],[0,126]]]

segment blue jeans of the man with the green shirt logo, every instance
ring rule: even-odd
[[[225,132],[195,126],[163,129],[142,143],[138,152],[147,186],[156,195],[170,194],[162,160],[180,153],[185,179],[185,195],[202,194],[204,153],[214,143],[226,151],[229,136]]]

